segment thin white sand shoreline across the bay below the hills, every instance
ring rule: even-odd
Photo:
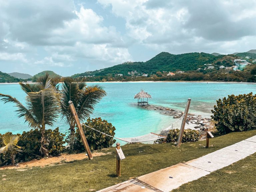
[[[220,81],[86,81],[87,83],[241,83],[241,84],[256,84],[252,82],[220,82]],[[19,84],[19,83],[0,83],[0,85]]]

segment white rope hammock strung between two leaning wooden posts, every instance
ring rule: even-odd
[[[182,117],[184,117],[184,115],[182,115],[178,120],[180,120]],[[177,121],[175,121],[173,124],[175,124]],[[173,128],[173,124],[170,127]],[[126,138],[121,137],[121,138],[119,138],[119,137],[114,137],[114,136],[108,135],[106,133],[103,133],[103,132],[101,132],[99,130],[96,130],[92,127],[89,127],[89,126],[87,126],[83,123],[81,123],[81,125],[84,125],[84,126],[90,128],[90,129],[94,130],[94,131],[99,132],[99,133],[102,133],[103,135],[106,135],[106,136],[109,136],[109,137],[112,137],[112,138],[115,138],[115,139],[119,139],[119,140],[125,141],[127,143],[142,143],[142,142],[147,142],[147,141],[155,141],[155,140],[158,140],[158,139],[163,139],[163,138],[166,138],[168,136],[169,130],[170,130],[170,129],[163,130],[163,131],[161,131],[160,134],[148,133],[146,135],[141,135],[141,136],[137,136],[137,137],[126,137]],[[170,127],[168,127],[168,128],[170,128]]]

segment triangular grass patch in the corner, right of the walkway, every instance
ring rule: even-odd
[[[172,192],[255,192],[256,153],[230,166],[214,171],[198,180],[186,183]]]

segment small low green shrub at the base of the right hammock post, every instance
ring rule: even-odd
[[[179,129],[172,129],[169,131],[169,134],[167,136],[167,138],[165,139],[160,139],[158,141],[156,141],[155,143],[177,143],[178,142],[178,138],[179,138],[179,133],[180,130]],[[192,129],[185,129],[182,135],[182,143],[185,142],[196,142],[199,140],[199,132],[196,130],[192,130]]]

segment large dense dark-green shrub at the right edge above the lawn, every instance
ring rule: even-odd
[[[229,95],[214,105],[211,116],[221,133],[256,129],[256,95]]]

